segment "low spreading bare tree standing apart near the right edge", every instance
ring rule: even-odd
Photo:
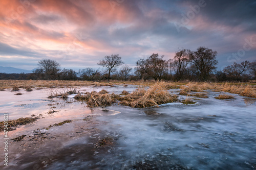
[[[234,79],[238,80],[241,78],[243,74],[246,73],[250,66],[249,61],[243,61],[240,64],[237,62],[234,62],[232,65],[229,65],[223,69],[223,72],[227,74],[228,76],[233,77]]]

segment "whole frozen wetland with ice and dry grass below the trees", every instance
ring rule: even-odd
[[[255,84],[1,80],[0,90],[0,169],[256,169]]]

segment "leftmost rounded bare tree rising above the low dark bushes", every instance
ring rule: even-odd
[[[37,64],[40,69],[44,70],[46,79],[56,79],[59,72],[60,64],[55,60],[43,59]]]

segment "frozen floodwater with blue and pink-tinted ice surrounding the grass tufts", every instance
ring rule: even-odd
[[[120,94],[136,88],[76,90]],[[1,169],[256,169],[253,98],[206,90],[208,98],[189,97],[196,102],[191,105],[178,101],[150,108],[118,103],[89,108],[74,100],[75,94],[48,99],[55,90],[62,89],[22,89],[22,95],[11,89],[0,91],[2,119],[4,114],[9,120],[37,117],[36,122],[8,132],[9,139],[24,136],[9,140],[8,167],[2,163]],[[168,91],[179,93],[179,89]],[[235,99],[215,99],[221,93]],[[65,120],[70,122],[55,125]],[[4,139],[4,132],[0,137]],[[0,148],[4,147],[1,142]]]

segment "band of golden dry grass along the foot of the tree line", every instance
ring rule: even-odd
[[[47,81],[47,80],[0,80],[0,90],[13,88],[56,88],[56,87],[77,87],[77,86],[114,86],[127,84],[153,86],[155,81],[111,81],[111,82],[96,82],[96,81]],[[206,83],[206,82],[166,82],[165,88],[180,88],[183,92],[181,95],[187,95],[188,92],[205,92],[204,90],[225,91],[236,93],[251,98],[256,98],[255,83]],[[186,93],[186,94],[185,94]],[[193,96],[193,95],[191,95]],[[206,96],[206,95],[204,95]]]

